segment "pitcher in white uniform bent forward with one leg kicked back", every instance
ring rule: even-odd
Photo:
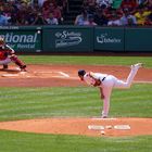
[[[130,88],[132,80],[142,63],[131,65],[130,74],[126,81],[119,80],[113,75],[101,73],[86,73],[84,69],[78,71],[78,76],[81,80],[86,81],[92,87],[99,87],[100,97],[103,99],[102,118],[106,118],[110,110],[110,98],[113,88]]]

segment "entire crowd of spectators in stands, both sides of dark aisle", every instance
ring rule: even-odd
[[[152,0],[83,0],[75,25],[137,26],[152,25]],[[119,0],[121,1],[121,0]],[[0,0],[0,26],[59,25],[68,0]]]

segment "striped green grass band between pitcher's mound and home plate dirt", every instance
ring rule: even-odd
[[[112,93],[110,116],[151,117],[152,85],[134,85]],[[0,121],[36,117],[100,116],[98,88],[0,88]]]

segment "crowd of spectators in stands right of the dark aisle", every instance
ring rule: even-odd
[[[123,0],[113,8],[114,0],[84,0],[83,10],[75,25],[150,26],[152,0]]]

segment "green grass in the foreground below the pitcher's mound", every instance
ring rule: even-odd
[[[150,152],[152,137],[93,138],[0,131],[0,152]]]

